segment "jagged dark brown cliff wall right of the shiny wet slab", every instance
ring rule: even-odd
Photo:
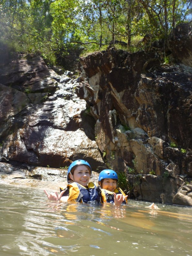
[[[187,42],[187,60],[177,59],[187,64],[191,28],[184,27],[174,33],[184,31],[180,41]],[[169,49],[175,58],[177,50]],[[191,192],[176,195],[192,177],[192,69],[182,63],[159,65],[160,58],[153,49],[129,54],[108,48],[88,55],[80,59],[76,92],[90,106],[106,165],[127,173],[135,197],[192,205]]]

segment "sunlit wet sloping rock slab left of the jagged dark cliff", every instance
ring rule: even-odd
[[[75,94],[77,80],[49,71],[41,57],[13,63],[0,75],[1,160],[60,168],[85,158],[95,169],[102,166],[94,119]]]

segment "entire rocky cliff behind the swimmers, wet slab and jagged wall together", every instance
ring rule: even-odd
[[[0,174],[17,174],[20,163],[23,178],[48,179],[37,166],[67,168],[83,158],[93,170],[123,172],[129,198],[192,206],[190,35],[189,24],[170,35],[172,64],[161,64],[154,47],[107,48],[80,59],[78,79],[57,75],[39,56],[4,61]]]

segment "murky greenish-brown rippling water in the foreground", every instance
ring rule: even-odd
[[[0,195],[0,256],[192,256],[190,207],[58,203],[4,184]]]

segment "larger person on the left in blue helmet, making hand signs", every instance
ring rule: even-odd
[[[60,194],[51,192],[50,195],[44,189],[49,200],[60,201],[77,201],[89,204],[103,203],[104,192],[101,192],[100,187],[94,183],[89,182],[91,175],[91,166],[85,160],[76,160],[68,168],[67,188],[63,190],[60,188]],[[119,206],[121,198],[114,196],[114,205]]]

